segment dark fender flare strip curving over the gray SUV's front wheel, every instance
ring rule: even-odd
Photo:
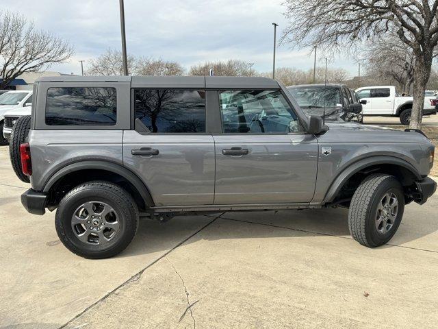
[[[343,169],[339,175],[337,175],[337,178],[333,180],[333,182],[330,185],[329,190],[326,193],[326,196],[324,197],[323,203],[329,203],[332,202],[333,199],[335,199],[337,193],[339,193],[339,190],[344,186],[345,182],[352,176],[355,175],[355,173],[361,171],[362,169],[366,167],[370,167],[376,164],[395,164],[397,166],[403,167],[415,176],[417,180],[422,180],[422,175],[418,173],[417,169],[413,167],[412,164],[409,162],[402,160],[400,158],[396,158],[394,156],[372,156],[369,158],[361,159],[357,162],[354,162],[350,164],[348,167]]]

